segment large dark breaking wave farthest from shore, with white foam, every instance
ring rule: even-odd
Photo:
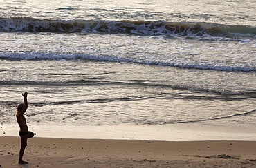
[[[256,28],[217,23],[167,21],[51,20],[31,17],[0,18],[2,32],[107,33],[166,36],[225,36],[256,38]]]

